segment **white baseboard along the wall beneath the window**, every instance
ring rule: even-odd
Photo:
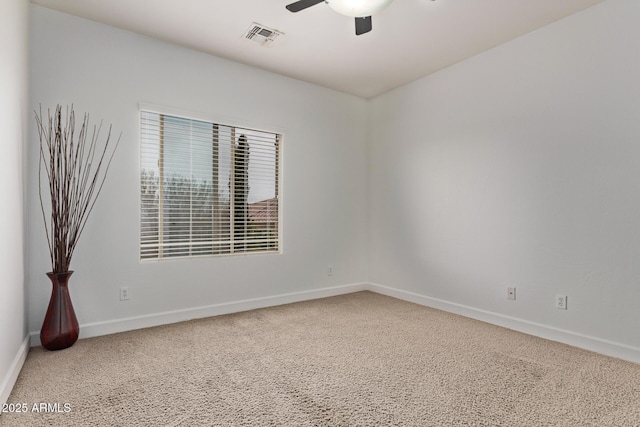
[[[353,292],[365,291],[367,289],[368,285],[366,283],[354,283],[350,285],[334,286],[329,288],[313,289],[309,291],[280,294],[270,297],[214,304],[204,307],[194,307],[184,310],[174,310],[163,313],[154,313],[143,316],[114,319],[104,322],[87,323],[80,325],[80,339],[115,334],[118,332],[132,331],[135,329],[150,328],[153,326],[167,325],[170,323],[184,322],[192,319],[238,313],[241,311],[255,310],[258,308],[273,307],[294,302],[349,294]],[[30,333],[30,336],[31,346],[39,346],[40,332],[33,331]]]

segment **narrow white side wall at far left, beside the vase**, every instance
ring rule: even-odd
[[[24,284],[24,168],[27,142],[28,0],[8,0],[0,13],[0,404],[28,347]]]

